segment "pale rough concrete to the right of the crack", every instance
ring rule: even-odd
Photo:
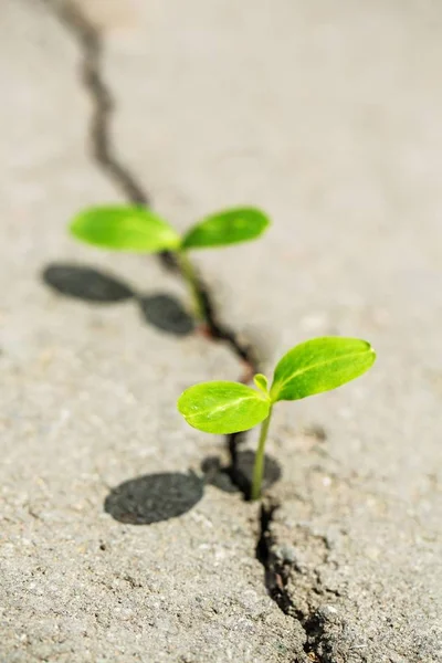
[[[377,348],[358,383],[277,413],[272,550],[295,547],[285,590],[311,657],[436,661],[440,4],[217,7],[154,2],[130,40],[109,34],[118,144],[182,225],[243,202],[274,217],[255,245],[196,254],[269,366],[314,335]]]

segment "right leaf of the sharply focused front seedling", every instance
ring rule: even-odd
[[[375,362],[369,343],[358,338],[314,338],[292,348],[275,368],[272,402],[330,391],[361,376]]]

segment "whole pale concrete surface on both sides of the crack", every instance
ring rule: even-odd
[[[379,359],[275,413],[267,586],[284,614],[254,559],[257,509],[213,486],[197,502],[188,470],[222,441],[172,407],[190,382],[235,378],[238,362],[140,324],[129,296],[97,308],[36,277],[82,261],[185,296],[152,261],[64,239],[80,204],[119,191],[86,156],[75,36],[48,6],[8,0],[3,657],[440,661],[440,3],[76,4],[103,30],[114,141],[156,209],[180,228],[238,203],[274,218],[262,242],[196,256],[223,319],[269,370],[322,334],[366,337]],[[167,476],[109,496],[151,473]]]

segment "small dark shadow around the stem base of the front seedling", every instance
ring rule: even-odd
[[[202,461],[201,470],[207,484],[224,493],[241,492],[245,499],[250,499],[254,461],[253,451],[239,451],[233,465],[223,466],[219,457],[208,456]],[[280,481],[281,476],[281,465],[272,456],[265,455],[263,492]]]

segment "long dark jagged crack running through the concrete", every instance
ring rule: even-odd
[[[151,199],[136,176],[125,166],[112,141],[110,120],[115,110],[115,102],[110,90],[103,76],[104,43],[101,31],[95,28],[82,12],[70,1],[43,0],[54,11],[62,24],[71,32],[82,54],[81,72],[82,82],[92,101],[92,115],[90,122],[90,148],[92,158],[97,166],[113,180],[126,199],[133,204],[149,206]],[[162,265],[171,271],[179,272],[175,256],[169,252],[160,254]],[[212,340],[225,343],[239,360],[244,365],[242,381],[249,382],[255,372],[259,372],[257,351],[246,341],[240,340],[238,333],[220,323],[213,298],[200,275],[198,275],[199,290],[204,306],[207,319],[207,336]],[[238,445],[244,439],[244,433],[227,435],[227,445],[230,454],[228,469],[232,483],[240,490],[245,499],[250,498],[249,491],[239,482],[236,473]],[[320,641],[320,629],[315,615],[305,615],[297,610],[286,590],[288,582],[290,565],[281,562],[272,552],[274,544],[270,527],[278,504],[263,502],[260,512],[260,528],[255,547],[255,557],[264,568],[264,583],[269,596],[285,614],[299,621],[306,633],[305,652],[309,661],[320,663],[315,650]],[[297,663],[297,660],[294,661]],[[301,661],[299,661],[301,663]]]

